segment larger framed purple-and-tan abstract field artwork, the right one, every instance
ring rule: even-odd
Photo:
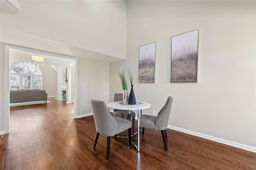
[[[197,82],[198,30],[172,37],[171,83]]]

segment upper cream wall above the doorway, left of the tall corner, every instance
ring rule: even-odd
[[[1,11],[5,43],[19,42],[17,45],[26,46],[21,44],[27,41],[22,37],[34,35],[66,44],[68,48],[58,53],[70,51],[81,55],[76,55],[78,57],[91,58],[92,51],[96,51],[126,59],[126,1],[37,0],[20,1],[20,6],[18,14]],[[15,36],[6,38],[9,32],[10,36]],[[18,40],[12,41],[16,38]],[[52,48],[56,51],[57,45]],[[94,55],[97,57],[99,55]]]

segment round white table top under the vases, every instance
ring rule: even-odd
[[[112,109],[118,109],[118,110],[138,110],[138,109],[147,109],[149,108],[151,105],[150,103],[147,103],[147,102],[144,102],[144,101],[141,101],[141,105],[132,105],[132,106],[129,106],[129,105],[118,105],[117,101],[116,102],[111,102],[111,103],[108,103],[108,107],[112,108]]]

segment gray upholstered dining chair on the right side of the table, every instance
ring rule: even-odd
[[[145,128],[161,130],[165,150],[168,150],[167,144],[166,144],[166,139],[168,139],[166,128],[168,125],[168,120],[169,120],[170,111],[172,107],[172,101],[173,101],[173,97],[169,96],[167,98],[167,101],[164,107],[162,107],[162,109],[159,111],[157,117],[152,115],[142,115],[140,117],[140,127],[142,127],[142,134],[144,134]],[[165,133],[165,137],[164,137],[164,133]]]

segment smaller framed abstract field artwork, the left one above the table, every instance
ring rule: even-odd
[[[155,82],[156,42],[139,48],[139,83]]]

